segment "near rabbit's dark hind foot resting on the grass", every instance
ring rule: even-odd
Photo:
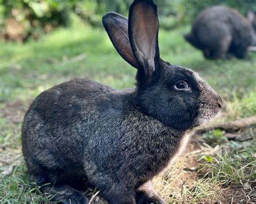
[[[49,193],[53,198],[51,201],[57,201],[63,204],[87,204],[87,198],[76,189],[68,185],[54,185],[41,187],[43,193]]]

